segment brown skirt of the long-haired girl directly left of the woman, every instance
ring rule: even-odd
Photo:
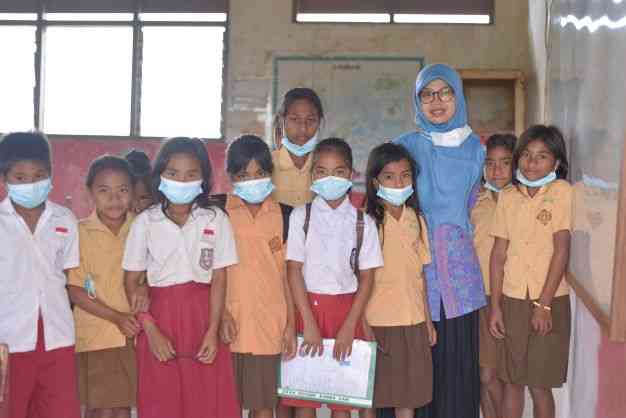
[[[433,361],[426,324],[372,327],[376,353],[375,408],[419,408],[433,398]]]

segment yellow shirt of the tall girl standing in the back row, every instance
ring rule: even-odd
[[[273,197],[285,205],[298,207],[313,200],[311,188],[311,164],[313,157],[309,154],[301,169],[295,166],[287,148],[281,147],[272,152],[274,174],[272,182],[276,187]]]

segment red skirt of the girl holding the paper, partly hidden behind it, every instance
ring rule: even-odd
[[[313,313],[313,318],[317,322],[317,326],[322,334],[322,338],[335,338],[346,320],[352,302],[354,301],[354,293],[343,295],[322,295],[319,293],[308,293],[309,305]],[[304,332],[304,322],[300,312],[296,312],[296,332]],[[361,322],[358,323],[354,332],[354,338],[364,340],[365,333]],[[281,403],[296,408],[321,408],[319,402],[304,401],[300,399],[282,398]],[[351,408],[345,405],[328,404],[328,408],[333,411],[350,411]]]

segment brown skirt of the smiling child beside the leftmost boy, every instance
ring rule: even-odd
[[[80,403],[88,409],[136,405],[137,364],[132,340],[126,346],[76,354]]]

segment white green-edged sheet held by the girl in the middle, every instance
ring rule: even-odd
[[[298,337],[298,347],[303,338]],[[376,343],[354,340],[352,355],[343,362],[333,358],[335,340],[324,340],[324,354],[297,355],[283,361],[278,394],[285,398],[338,403],[359,408],[372,406]]]

